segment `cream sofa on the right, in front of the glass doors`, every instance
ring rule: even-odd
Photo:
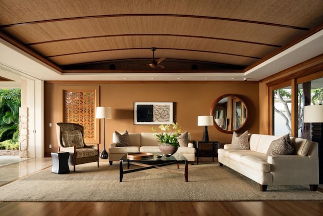
[[[271,142],[280,136],[249,134],[250,150],[236,150],[231,144],[218,149],[220,166],[223,164],[259,183],[260,190],[267,185],[318,186],[318,144],[301,138],[292,138],[292,155],[266,156]]]

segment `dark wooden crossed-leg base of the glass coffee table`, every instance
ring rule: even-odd
[[[170,171],[170,172],[184,174],[185,182],[188,182],[188,161],[187,160],[185,161],[184,171],[163,167],[163,166],[167,166],[167,165],[171,165],[171,164],[175,164],[175,163],[177,163],[177,168],[179,169],[180,163],[178,161],[164,162],[164,163],[160,163],[160,164],[146,164],[146,163],[140,163],[140,162],[135,162],[135,161],[127,161],[128,170],[123,170],[123,160],[120,160],[120,182],[122,182],[124,174],[130,173],[130,172],[141,171],[141,170],[145,170],[145,169],[151,169],[151,168],[162,169],[162,170],[166,170],[166,171]],[[143,166],[143,167],[136,168],[136,169],[129,169],[130,164],[137,165],[137,166]]]

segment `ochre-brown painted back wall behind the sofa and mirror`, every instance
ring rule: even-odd
[[[201,140],[203,127],[197,126],[198,115],[209,115],[214,100],[225,94],[235,94],[247,104],[249,118],[239,133],[259,133],[259,85],[258,82],[204,81],[204,82],[92,82],[100,87],[100,106],[112,107],[112,118],[106,119],[106,147],[112,142],[114,131],[129,133],[151,132],[149,125],[133,124],[133,102],[174,102],[176,121],[183,131],[191,133],[192,140]],[[75,82],[45,82],[45,155],[57,151],[56,123],[59,122],[59,87]],[[80,84],[85,85],[85,84]],[[52,123],[52,127],[49,127]],[[101,128],[102,130],[102,128]],[[101,140],[102,140],[101,131]],[[232,134],[225,134],[214,126],[208,126],[210,140],[230,143]],[[49,144],[52,148],[49,149]],[[100,145],[102,149],[102,145]]]

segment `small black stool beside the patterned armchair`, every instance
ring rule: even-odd
[[[52,167],[51,172],[56,174],[65,174],[70,172],[69,167],[69,152],[51,152]]]

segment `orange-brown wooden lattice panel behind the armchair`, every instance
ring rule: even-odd
[[[84,138],[95,137],[95,91],[64,91],[64,122],[84,126]]]

